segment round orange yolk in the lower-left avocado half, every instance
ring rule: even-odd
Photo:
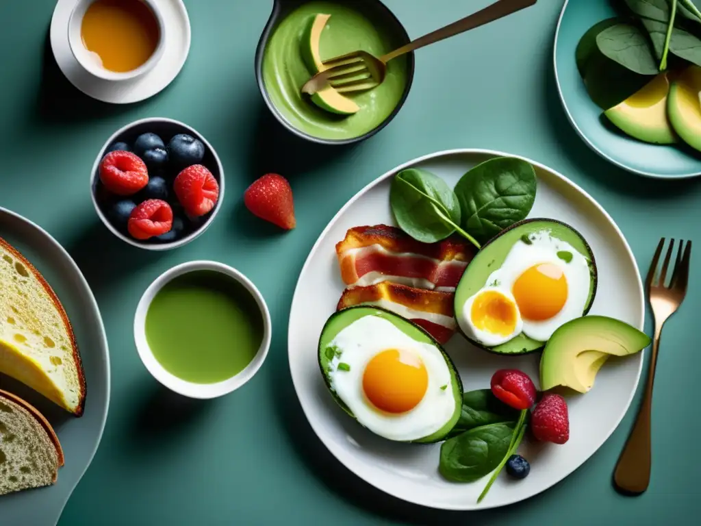
[[[428,389],[428,371],[421,358],[407,351],[386,349],[365,366],[362,390],[379,410],[403,413],[414,409]]]

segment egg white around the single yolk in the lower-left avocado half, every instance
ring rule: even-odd
[[[372,315],[343,328],[329,345],[340,351],[329,364],[327,376],[331,388],[370,431],[389,440],[418,440],[441,429],[453,416],[456,400],[450,369],[435,346],[416,342],[390,321]],[[402,414],[390,414],[374,407],[362,389],[365,366],[386,349],[414,353],[428,372],[426,394],[414,409]],[[339,363],[348,364],[350,369],[339,369]]]

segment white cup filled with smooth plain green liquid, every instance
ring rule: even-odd
[[[215,261],[165,271],[144,292],[134,316],[144,366],[189,398],[217,398],[246,384],[263,365],[271,334],[261,292],[238,270]]]

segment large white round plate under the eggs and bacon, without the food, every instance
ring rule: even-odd
[[[318,337],[343,291],[334,245],[351,227],[394,224],[389,190],[392,176],[418,166],[453,186],[477,163],[498,151],[453,150],[409,161],[362,189],[341,208],[315,243],[292,299],[288,352],[292,382],[306,417],[321,441],[348,469],[380,490],[405,501],[451,510],[506,506],[546,490],[581,466],[618,426],[635,393],[643,356],[609,360],[585,395],[569,396],[570,438],[565,445],[529,444],[521,452],[531,461],[526,480],[498,477],[481,504],[477,497],[489,477],[470,484],[449,483],[438,473],[440,445],[385,440],[360,426],[327,392],[317,362]],[[640,274],[625,238],[594,199],[562,175],[529,159],[536,168],[538,192],[530,217],[551,217],[577,229],[597,260],[599,285],[591,313],[613,316],[643,327],[644,296]],[[445,346],[465,391],[489,387],[495,370],[522,369],[538,385],[540,353],[498,356],[481,351],[455,335]]]

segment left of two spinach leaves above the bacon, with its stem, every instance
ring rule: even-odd
[[[455,192],[428,170],[408,168],[397,173],[390,187],[390,205],[399,227],[417,241],[435,243],[458,231],[479,248],[460,228]]]

